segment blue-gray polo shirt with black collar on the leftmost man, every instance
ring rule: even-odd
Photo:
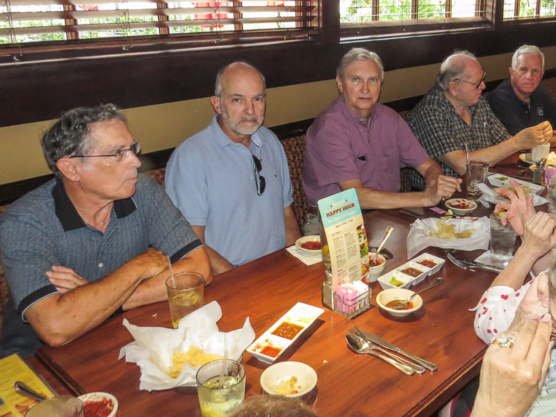
[[[24,313],[57,292],[46,275],[52,265],[71,268],[93,282],[149,247],[177,261],[200,246],[163,188],[145,175],[139,175],[133,197],[114,202],[104,233],[83,222],[63,183],[45,183],[0,216],[0,251],[10,289],[0,357],[13,352],[32,354],[40,346],[24,322]]]

